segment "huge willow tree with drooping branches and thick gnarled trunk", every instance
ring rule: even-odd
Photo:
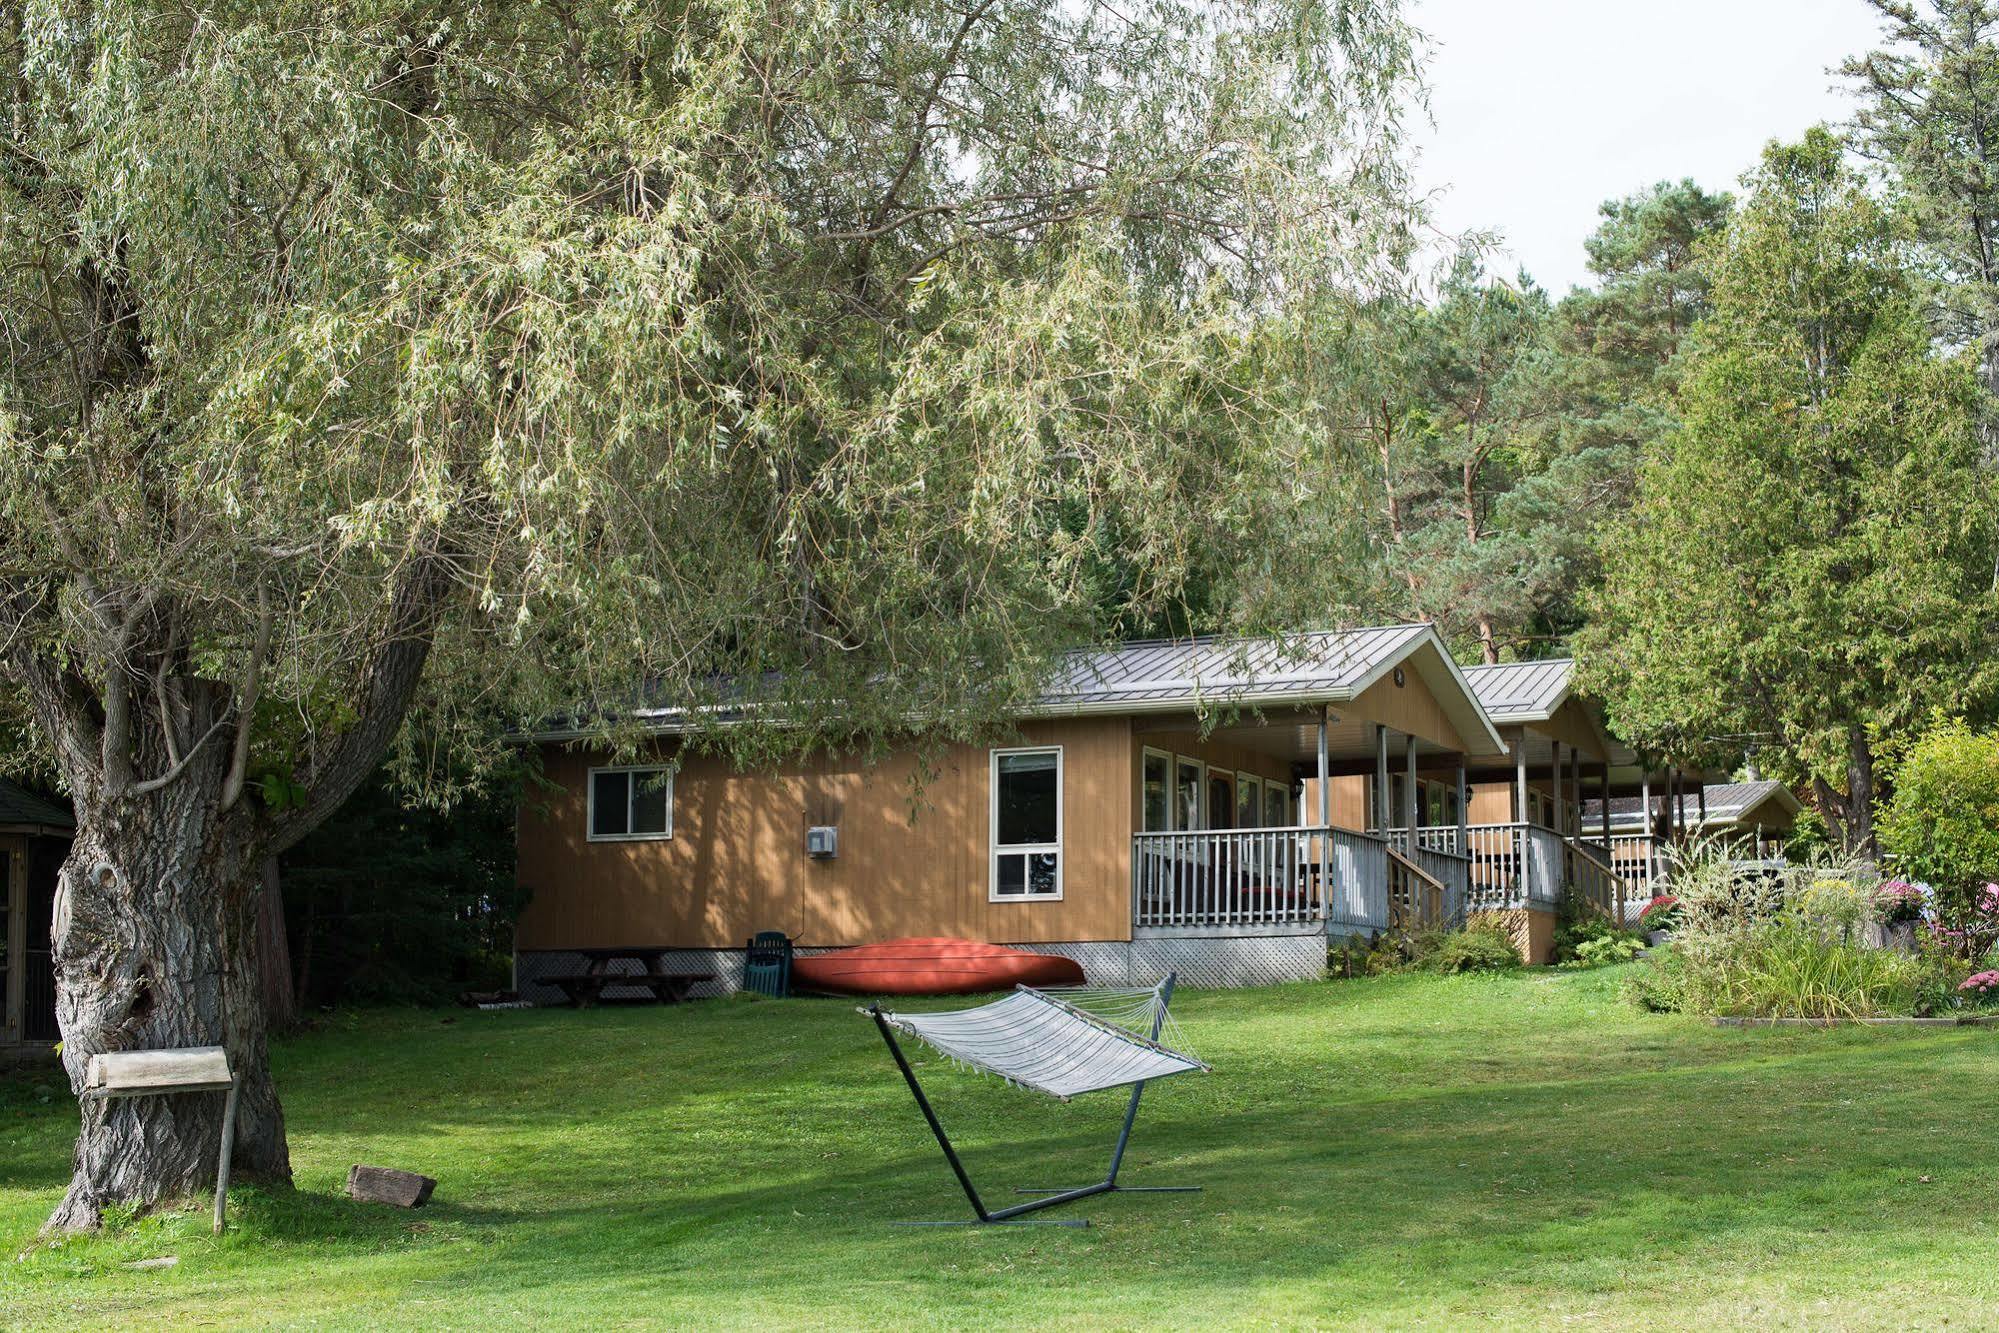
[[[264,1179],[254,867],[414,713],[972,733],[1193,584],[1255,618],[1213,590],[1313,492],[1285,312],[1411,232],[1393,0],[0,22],[0,652],[76,799],[64,1063],[226,1043]],[[218,1133],[84,1101],[52,1225]]]

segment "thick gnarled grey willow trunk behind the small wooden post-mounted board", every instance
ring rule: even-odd
[[[56,1017],[70,1087],[90,1057],[222,1045],[238,1077],[234,1171],[288,1183],[270,1081],[256,935],[262,849],[250,819],[218,817],[222,771],[196,763],[138,797],[78,803],[56,887]],[[90,1229],[214,1187],[222,1095],[80,1099],[76,1173],[50,1229]]]

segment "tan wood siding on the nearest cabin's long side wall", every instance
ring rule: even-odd
[[[956,745],[922,789],[916,751],[874,765],[796,759],[742,773],[688,755],[674,779],[674,837],[590,841],[588,753],[546,749],[554,789],[520,813],[522,949],[740,945],[782,929],[806,945],[898,935],[990,941],[1129,939],[1129,833],[1137,775],[1125,717],[1021,725],[1021,745],[1061,745],[1063,897],[988,901],[988,749]],[[662,751],[666,753],[666,751]],[[840,855],[806,855],[806,829],[840,829]]]

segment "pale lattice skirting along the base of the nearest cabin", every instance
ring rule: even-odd
[[[1311,981],[1325,975],[1325,933],[1297,935],[1171,935],[1097,939],[1097,941],[1017,941],[1015,949],[1035,953],[1061,953],[1083,965],[1083,975],[1091,985],[1157,985],[1167,971],[1179,975],[1185,985],[1235,987],[1273,985],[1277,981]],[[798,949],[798,953],[826,953],[826,949]],[[568,1003],[564,993],[542,981],[542,977],[574,975],[584,971],[582,953],[562,949],[536,949],[514,955],[514,989],[520,997],[536,1005]],[[676,949],[666,955],[666,971],[706,971],[716,979],[694,987],[694,997],[728,995],[742,989],[744,955],[742,949]],[[636,961],[626,961],[618,971],[638,971]],[[650,991],[640,987],[610,985],[606,999],[648,999]]]

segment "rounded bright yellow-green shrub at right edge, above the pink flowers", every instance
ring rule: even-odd
[[[1895,767],[1877,831],[1895,869],[1929,885],[1939,943],[1985,957],[1999,943],[1999,731],[1931,727]]]

